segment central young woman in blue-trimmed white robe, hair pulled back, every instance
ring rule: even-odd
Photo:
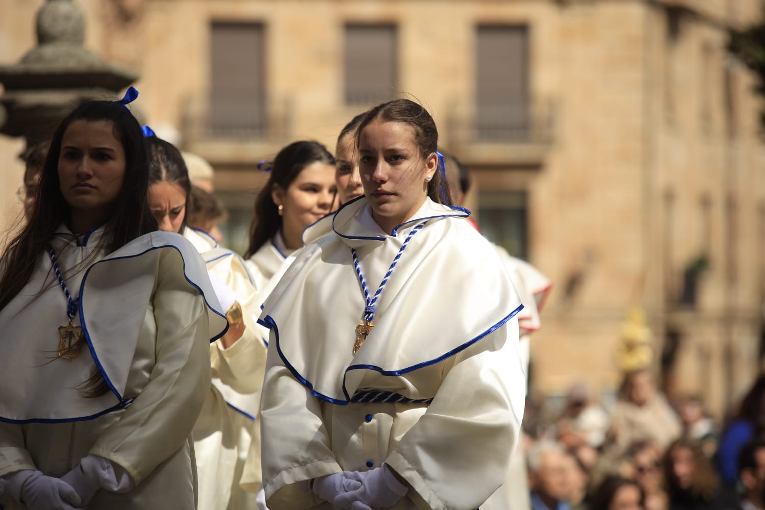
[[[522,305],[469,212],[448,205],[437,142],[422,106],[372,109],[357,136],[365,197],[264,304],[272,510],[474,510],[506,479]]]

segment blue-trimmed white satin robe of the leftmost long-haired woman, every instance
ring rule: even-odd
[[[0,310],[0,476],[63,476],[93,454],[122,466],[135,485],[124,494],[100,489],[88,508],[196,508],[191,430],[210,387],[210,339],[225,332],[226,319],[183,237],[151,232],[106,255],[97,250],[102,230],[82,245],[63,227],[50,239],[81,299],[76,325],[88,346],[79,356],[56,356],[67,300],[47,252]],[[96,366],[111,391],[83,398],[76,386]]]

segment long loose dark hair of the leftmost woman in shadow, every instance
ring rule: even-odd
[[[148,205],[148,161],[143,133],[132,113],[119,102],[89,101],[70,112],[58,125],[40,175],[34,208],[28,223],[2,254],[0,310],[21,292],[34,272],[37,258],[53,236],[56,227],[71,219],[70,206],[60,192],[58,160],[61,140],[76,121],[112,122],[112,132],[125,151],[125,175],[112,214],[104,225],[98,248],[114,252],[133,239],[157,229]],[[44,289],[41,289],[41,292]],[[85,397],[98,397],[109,391],[98,369],[79,387]]]

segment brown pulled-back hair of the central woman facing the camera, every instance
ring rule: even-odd
[[[435,127],[433,117],[425,107],[409,99],[394,99],[383,102],[369,110],[356,131],[356,148],[359,147],[363,129],[376,119],[383,122],[402,122],[411,126],[415,132],[415,143],[423,160],[438,151],[438,128]],[[448,206],[454,203],[440,163],[435,174],[433,174],[433,178],[428,182],[428,197],[436,203],[443,203]]]

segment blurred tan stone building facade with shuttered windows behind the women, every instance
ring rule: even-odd
[[[0,61],[42,0],[0,0]],[[612,391],[629,310],[675,395],[720,416],[760,369],[762,102],[726,49],[761,0],[80,0],[86,46],[140,71],[155,131],[216,168],[241,246],[256,163],[392,96],[422,102],[474,172],[484,233],[555,284],[533,383]],[[236,79],[234,79],[236,78]],[[18,141],[0,139],[15,213]]]

